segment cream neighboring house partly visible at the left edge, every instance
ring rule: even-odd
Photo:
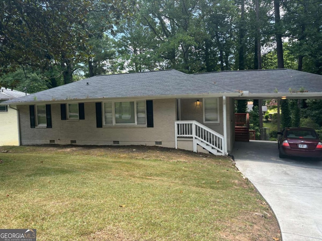
[[[24,92],[0,88],[0,103],[25,96]],[[0,146],[19,145],[18,114],[15,105],[0,105]]]

